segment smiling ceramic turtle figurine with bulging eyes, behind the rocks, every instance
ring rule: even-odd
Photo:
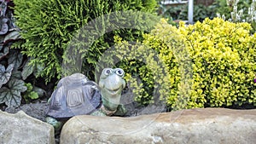
[[[62,78],[49,99],[47,123],[59,130],[63,121],[76,115],[125,115],[127,111],[119,103],[125,88],[124,74],[120,68],[105,68],[99,84],[81,73]]]

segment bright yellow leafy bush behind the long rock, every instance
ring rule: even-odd
[[[193,26],[180,23],[178,29],[162,20],[152,32],[145,34],[145,49],[150,47],[157,51],[169,72],[169,76],[164,77],[169,78],[169,91],[161,94],[167,95],[169,107],[256,105],[256,84],[253,82],[256,34],[251,35],[250,29],[247,23],[218,18],[206,19]],[[141,75],[144,85],[133,88],[147,93],[140,95],[139,100],[153,96],[147,87],[154,88],[154,81],[157,81],[154,75],[155,72]],[[127,78],[127,82],[133,83],[133,80]]]

